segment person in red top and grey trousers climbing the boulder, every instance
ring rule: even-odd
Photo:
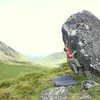
[[[73,53],[71,53],[70,49],[67,47],[64,48],[64,51],[66,52],[67,61],[71,69],[74,71],[75,74],[79,74],[78,70],[81,67],[81,65],[79,64],[78,60],[74,57],[74,55],[76,55],[77,52],[74,51]]]

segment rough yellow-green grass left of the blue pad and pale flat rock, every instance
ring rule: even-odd
[[[0,82],[0,100],[38,100],[39,93],[54,84],[54,77],[71,73],[66,67],[25,74],[12,80]]]

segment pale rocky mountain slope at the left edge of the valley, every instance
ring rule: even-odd
[[[24,57],[21,54],[0,41],[0,61],[18,62],[23,60]]]

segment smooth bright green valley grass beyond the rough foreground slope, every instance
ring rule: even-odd
[[[43,67],[39,64],[8,64],[0,62],[0,80],[13,79],[26,73],[40,72],[46,69],[47,67]]]

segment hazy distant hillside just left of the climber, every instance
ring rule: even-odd
[[[64,52],[57,52],[36,60],[36,62],[49,67],[58,67],[61,63],[66,62],[66,57]]]

